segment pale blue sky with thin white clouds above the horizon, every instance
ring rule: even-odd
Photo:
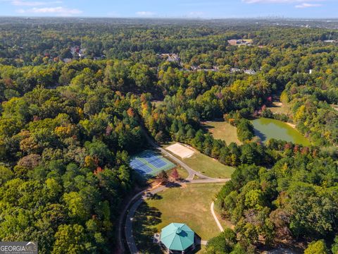
[[[338,0],[0,0],[0,16],[338,18]]]

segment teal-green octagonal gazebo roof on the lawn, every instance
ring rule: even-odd
[[[171,223],[161,231],[161,242],[169,250],[186,250],[194,243],[194,231],[186,224]]]

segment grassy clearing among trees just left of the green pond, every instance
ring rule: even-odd
[[[237,138],[237,128],[225,121],[207,121],[202,123],[215,139],[224,140],[227,145],[234,142],[241,144]]]

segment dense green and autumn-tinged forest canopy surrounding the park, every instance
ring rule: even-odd
[[[236,235],[213,238],[208,253],[285,239],[337,253],[338,32],[288,22],[1,23],[1,241],[110,253],[121,204],[142,184],[129,157],[146,131],[237,167],[216,202]],[[289,114],[267,109],[276,97]],[[312,145],[264,145],[249,121],[258,116],[294,123]],[[213,119],[237,126],[243,144],[206,133],[200,122]]]

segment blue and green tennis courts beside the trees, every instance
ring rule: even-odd
[[[156,175],[159,171],[169,170],[175,167],[175,164],[156,154],[151,150],[145,150],[139,155],[132,157],[130,167],[143,175]]]

